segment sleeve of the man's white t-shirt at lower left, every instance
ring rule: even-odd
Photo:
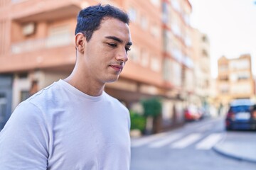
[[[43,113],[21,103],[0,132],[0,169],[47,169],[48,130]]]

